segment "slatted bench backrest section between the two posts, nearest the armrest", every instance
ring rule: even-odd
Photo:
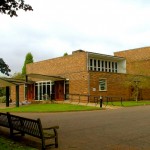
[[[40,119],[34,120],[16,115],[10,115],[11,127],[13,130],[22,131],[35,137],[42,137],[42,125]]]

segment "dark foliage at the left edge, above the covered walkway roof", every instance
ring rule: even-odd
[[[2,58],[0,58],[0,72],[9,76],[9,72],[11,70],[9,69],[9,66],[4,62]]]

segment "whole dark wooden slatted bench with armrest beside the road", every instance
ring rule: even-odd
[[[42,149],[54,145],[58,148],[58,133],[59,126],[53,126],[49,128],[42,128],[40,119],[29,119],[12,115],[10,113],[0,113],[0,126],[10,128],[10,136],[13,137],[16,134],[24,136],[25,134],[37,137],[41,139]],[[46,140],[54,139],[52,144],[46,144]]]

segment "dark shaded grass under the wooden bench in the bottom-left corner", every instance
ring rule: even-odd
[[[0,136],[0,149],[2,150],[36,150],[19,142]]]

